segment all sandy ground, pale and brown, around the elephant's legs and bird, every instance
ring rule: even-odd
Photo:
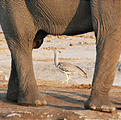
[[[69,84],[66,76],[53,64],[53,48],[61,51],[59,60],[80,66],[88,78],[71,75]],[[90,94],[95,64],[95,37],[93,33],[77,36],[48,36],[41,48],[33,50],[35,76],[40,89],[48,101],[47,106],[25,107],[9,103],[5,99],[10,74],[10,52],[4,35],[0,34],[0,119],[39,119],[39,120],[120,120],[121,89],[113,87],[111,99],[118,108],[117,113],[109,114],[84,110],[83,104]],[[121,86],[120,61],[117,65],[114,85]],[[84,85],[83,85],[84,84]],[[87,85],[86,85],[87,84]]]

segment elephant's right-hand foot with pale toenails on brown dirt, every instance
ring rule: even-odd
[[[106,100],[106,101],[105,101]],[[110,101],[107,98],[103,97],[94,97],[89,98],[85,104],[85,109],[100,111],[100,112],[108,112],[108,113],[115,113],[116,108],[111,106]]]

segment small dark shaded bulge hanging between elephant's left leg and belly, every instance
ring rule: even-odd
[[[43,39],[47,36],[47,33],[43,30],[39,30],[34,38],[34,41],[33,41],[33,46],[32,48],[33,49],[37,49],[39,48],[42,43],[43,43]]]

